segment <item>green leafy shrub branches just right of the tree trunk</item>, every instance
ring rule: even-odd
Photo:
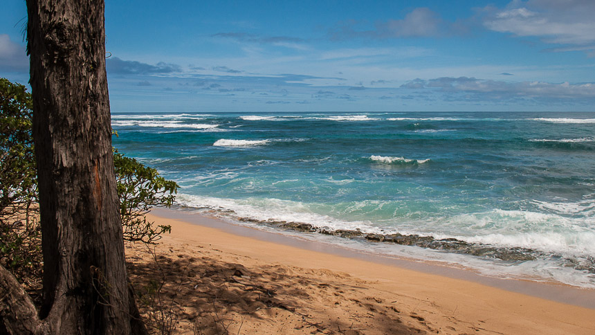
[[[161,234],[170,233],[172,226],[154,226],[145,214],[152,207],[172,206],[178,184],[117,151],[113,154],[113,165],[116,167],[124,239],[153,243],[161,239]]]

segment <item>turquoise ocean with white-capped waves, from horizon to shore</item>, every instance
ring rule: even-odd
[[[337,239],[595,287],[595,113],[117,113],[112,125],[120,152],[178,181],[183,206],[522,248],[531,260]]]

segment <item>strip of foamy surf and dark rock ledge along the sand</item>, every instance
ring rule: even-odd
[[[348,249],[385,255],[391,259],[442,264],[451,268],[473,271],[486,278],[548,282],[580,289],[595,289],[595,263],[593,257],[589,257],[587,252],[592,246],[576,244],[571,249],[540,247],[539,244],[522,241],[525,238],[531,240],[533,233],[527,232],[518,233],[518,235],[513,232],[511,232],[512,235],[495,234],[500,236],[498,238],[518,239],[520,242],[492,244],[477,242],[482,240],[479,237],[473,242],[474,239],[464,237],[465,234],[459,236],[435,233],[437,237],[434,237],[432,231],[412,231],[406,228],[375,230],[371,221],[370,226],[358,226],[357,220],[346,221],[346,225],[336,226],[333,224],[332,217],[327,217],[328,221],[320,221],[326,217],[325,215],[321,217],[315,215],[313,218],[296,217],[292,210],[288,210],[289,214],[287,214],[283,206],[273,205],[274,208],[268,209],[266,206],[253,208],[250,205],[235,207],[232,199],[199,197],[201,201],[194,202],[192,200],[194,196],[179,195],[187,198],[181,201],[183,205],[175,206],[173,209],[183,212],[194,211],[198,215],[215,217],[232,226],[249,226],[281,235],[293,235],[300,239],[342,245]],[[219,200],[222,203],[219,203]],[[275,203],[274,199],[273,203]],[[256,209],[255,213],[252,212],[254,209]],[[527,215],[538,214],[529,212]],[[366,220],[363,219],[360,222],[366,222]],[[536,235],[540,234],[542,233],[536,233]],[[470,235],[474,234],[470,233]],[[556,238],[560,237],[554,235]],[[579,239],[586,241],[588,237],[587,234]]]

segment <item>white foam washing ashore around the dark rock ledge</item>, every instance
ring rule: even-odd
[[[301,222],[312,224],[319,228],[330,228],[334,230],[358,229],[363,233],[391,233],[389,230],[378,228],[378,226],[369,221],[344,221],[329,215],[318,214],[311,210],[311,205],[300,201],[271,198],[222,199],[189,194],[179,194],[177,200],[185,206],[206,210],[209,215],[217,215],[234,221],[244,218],[262,222]],[[555,215],[542,215],[540,213],[522,212],[519,210],[492,210],[485,213],[476,213],[475,219],[481,218],[484,215],[488,215],[497,221],[503,221],[502,219],[506,219],[506,217],[522,217],[531,221],[540,221],[555,217]],[[253,224],[246,220],[241,220],[239,223],[269,229],[266,226]],[[504,223],[502,226],[507,226],[507,224]],[[478,258],[472,255],[444,253],[443,251],[433,251],[426,248],[400,246],[396,244],[368,244],[358,240],[338,239],[336,237],[318,234],[304,235],[291,231],[286,233],[299,236],[300,238],[313,239],[318,242],[341,244],[347,248],[355,248],[367,252],[372,251],[381,255],[396,255],[399,257],[431,260],[443,264],[445,262],[447,264],[462,264],[463,266],[470,266],[480,273],[493,275],[498,278],[521,278],[538,281],[555,280],[578,287],[595,287],[595,278],[592,275],[585,275],[583,271],[577,271],[567,264],[567,260],[572,259],[577,264],[584,263],[586,266],[589,266],[590,263],[587,257],[595,254],[595,244],[593,244],[595,232],[593,230],[583,230],[582,232],[575,233],[531,231],[522,233],[515,231],[509,231],[509,233],[498,231],[484,233],[484,231],[477,231],[473,227],[467,230],[470,233],[476,233],[476,235],[448,235],[448,237],[472,243],[550,251],[553,254],[562,255],[562,257],[544,257],[530,262],[488,261],[486,258]],[[439,234],[435,234],[434,237],[444,238],[439,236]]]

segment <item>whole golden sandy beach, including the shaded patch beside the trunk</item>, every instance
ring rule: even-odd
[[[181,334],[595,334],[595,309],[580,306],[592,290],[531,284],[568,300],[556,302],[175,210],[150,219],[172,233],[154,248],[127,244],[131,280],[141,301],[171,311]]]

